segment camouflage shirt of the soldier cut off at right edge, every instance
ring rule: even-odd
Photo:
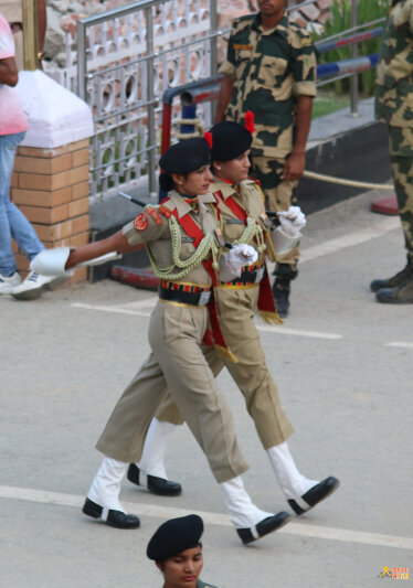
[[[377,118],[393,127],[413,127],[413,0],[390,9],[375,84]]]

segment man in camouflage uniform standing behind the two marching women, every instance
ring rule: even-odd
[[[252,175],[269,210],[287,210],[305,169],[305,148],[316,96],[316,54],[307,31],[292,22],[285,0],[258,0],[260,12],[234,21],[216,119],[242,122],[255,116]],[[279,256],[273,286],[280,317],[289,308],[289,285],[297,276],[298,246]]]

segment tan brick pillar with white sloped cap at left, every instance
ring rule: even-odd
[[[21,72],[18,87],[29,130],[18,149],[11,200],[45,247],[85,245],[89,240],[91,110],[40,71]],[[27,271],[25,255],[17,245],[14,252],[19,271]],[[87,268],[76,268],[71,281],[86,278]]]

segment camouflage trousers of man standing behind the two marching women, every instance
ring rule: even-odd
[[[286,211],[297,203],[295,189],[298,182],[282,180],[286,158],[276,159],[265,156],[251,156],[251,177],[258,180],[265,194],[266,210],[273,212]],[[290,252],[277,258],[275,276],[285,276],[293,280],[297,277],[299,247],[296,245]]]

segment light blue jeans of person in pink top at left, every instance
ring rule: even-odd
[[[8,277],[18,269],[11,249],[12,238],[29,259],[44,249],[32,225],[9,199],[15,151],[24,135],[0,135],[0,274]]]

